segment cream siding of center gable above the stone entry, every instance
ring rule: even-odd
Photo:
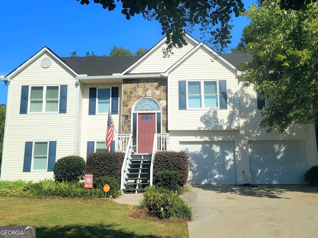
[[[140,64],[138,64],[129,73],[163,73],[169,67],[171,67],[175,62],[180,60],[184,55],[186,55],[191,49],[196,46],[196,43],[187,38],[188,45],[182,48],[172,48],[169,57],[163,58],[162,49],[166,49],[167,45],[162,44],[156,46],[153,49],[153,54],[146,57]]]

